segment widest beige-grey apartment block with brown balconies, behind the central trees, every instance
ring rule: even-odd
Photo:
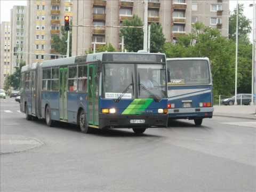
[[[119,49],[119,29],[134,14],[143,21],[143,0],[74,0],[72,55],[81,55],[96,46],[111,43]],[[167,42],[191,32],[195,22],[218,28],[228,36],[229,0],[148,0],[148,23],[161,23]]]

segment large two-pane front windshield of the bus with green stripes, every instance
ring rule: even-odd
[[[165,67],[162,64],[105,63],[102,97],[116,99],[129,87],[122,99],[134,99],[136,95],[138,98],[162,99],[166,98],[165,82]]]

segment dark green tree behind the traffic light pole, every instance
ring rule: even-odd
[[[61,36],[53,35],[52,37],[52,48],[58,52],[59,54],[66,55],[67,54],[67,39],[68,32],[64,30],[64,27],[61,26]],[[71,56],[71,47],[72,46],[72,30],[70,27],[70,36],[69,36],[69,56]]]

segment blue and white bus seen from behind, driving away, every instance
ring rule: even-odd
[[[212,118],[213,87],[208,58],[167,59],[169,119]]]

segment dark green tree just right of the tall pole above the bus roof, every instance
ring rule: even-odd
[[[165,43],[163,29],[161,25],[151,23],[150,28],[150,52],[157,53],[163,52],[163,46]]]

